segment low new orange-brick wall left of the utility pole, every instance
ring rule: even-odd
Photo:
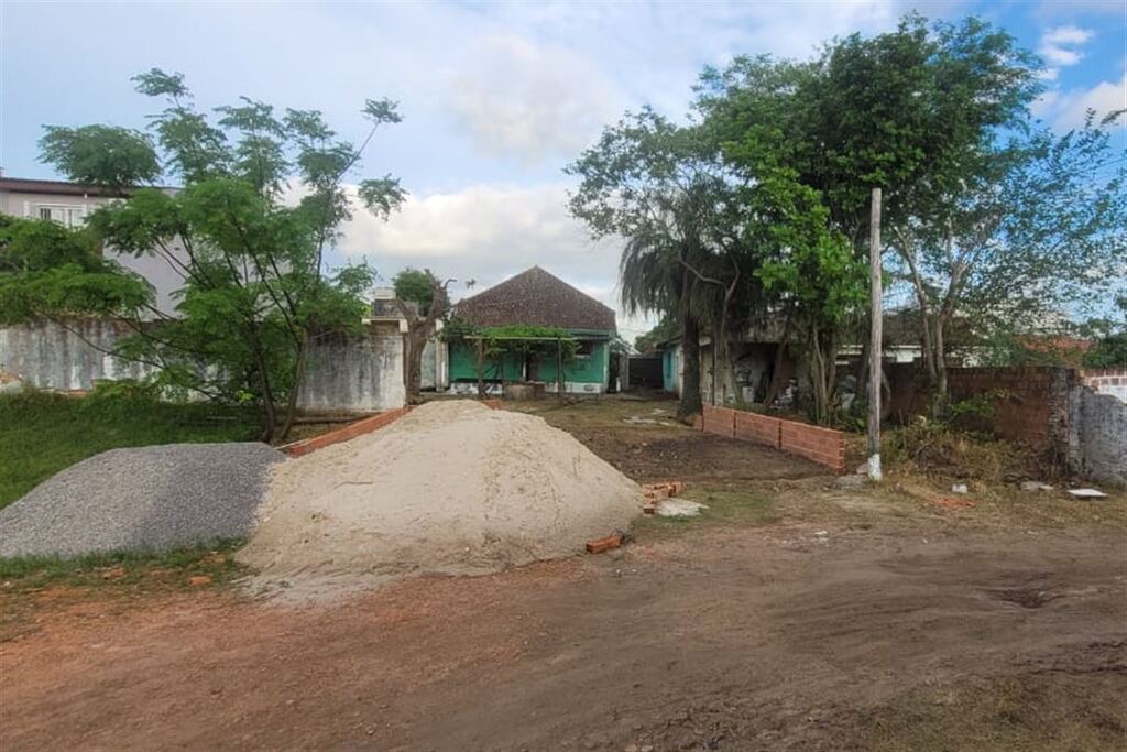
[[[798,454],[834,472],[845,471],[845,434],[797,421],[704,406],[701,430]]]

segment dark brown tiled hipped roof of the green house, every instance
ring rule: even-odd
[[[539,266],[467,298],[454,316],[477,326],[550,326],[614,331],[614,310]]]

